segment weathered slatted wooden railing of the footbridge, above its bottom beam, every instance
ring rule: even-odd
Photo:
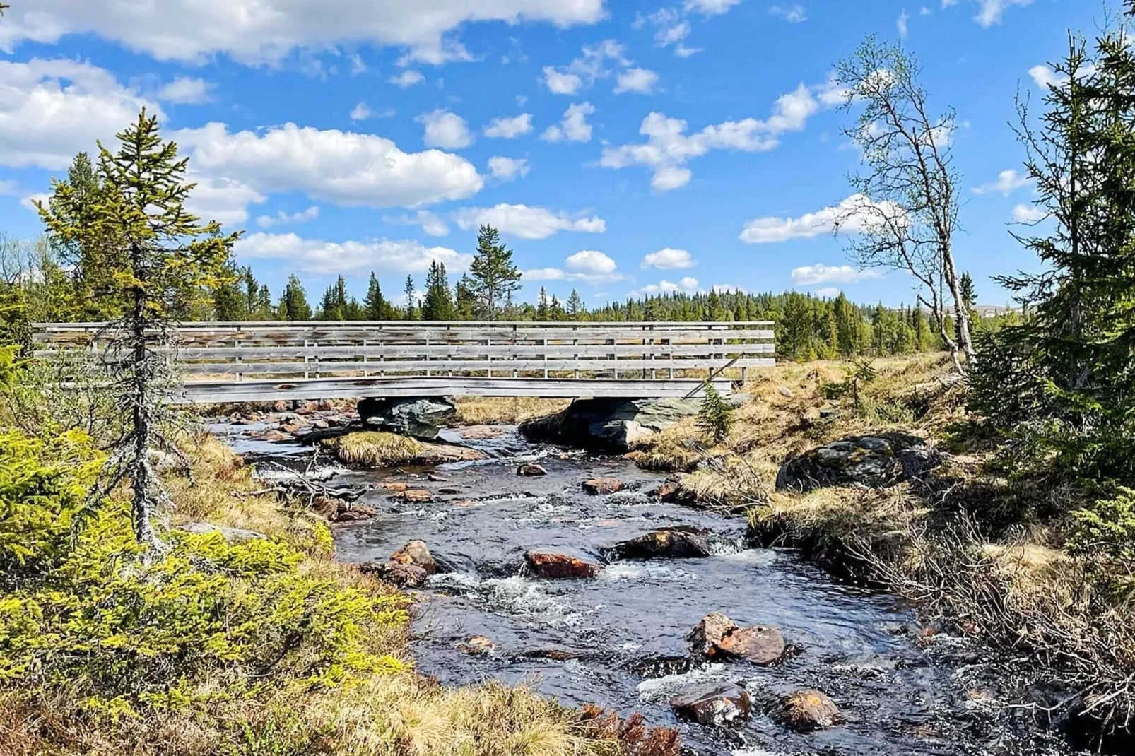
[[[165,347],[188,383],[398,376],[745,378],[774,364],[768,321],[196,322]],[[36,354],[112,359],[106,324],[39,324]],[[728,369],[726,372],[722,372]]]

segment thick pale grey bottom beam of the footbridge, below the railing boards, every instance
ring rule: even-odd
[[[295,381],[216,381],[186,386],[195,403],[276,400],[362,398],[365,396],[543,396],[548,398],[686,396],[700,380],[632,380],[614,378],[316,378]],[[729,380],[714,386],[729,393]]]

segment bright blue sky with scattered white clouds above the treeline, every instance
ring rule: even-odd
[[[1010,121],[1105,0],[9,0],[0,19],[0,233],[145,107],[191,158],[191,209],[244,229],[278,295],[361,296],[468,269],[490,224],[522,299],[798,289],[914,301],[858,270],[833,208],[859,153],[834,64],[900,40],[957,110],[958,267],[1035,269],[1011,237],[1033,190]]]

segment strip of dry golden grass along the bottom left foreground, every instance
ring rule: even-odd
[[[202,715],[78,721],[70,702],[0,697],[5,756],[619,756],[615,733],[524,688],[444,688],[413,673]],[[91,726],[95,724],[95,726]],[[673,751],[676,756],[676,749]]]

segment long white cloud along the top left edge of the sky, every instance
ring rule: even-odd
[[[6,11],[0,49],[90,33],[159,60],[203,62],[222,53],[249,64],[279,62],[296,50],[371,43],[439,64],[469,59],[454,39],[466,23],[568,27],[604,15],[604,0],[34,0]]]

